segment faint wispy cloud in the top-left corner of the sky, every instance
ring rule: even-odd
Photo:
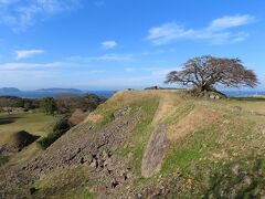
[[[0,22],[24,30],[36,21],[80,8],[80,0],[0,0]]]

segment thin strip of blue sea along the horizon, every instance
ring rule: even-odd
[[[73,93],[76,95],[84,95],[86,93],[93,93],[98,96],[103,97],[112,97],[116,91],[83,91],[82,93]],[[250,90],[250,91],[223,91],[229,96],[265,96],[265,91],[256,91],[256,90]],[[18,96],[23,98],[41,98],[41,97],[56,97],[60,96],[62,92],[45,92],[45,91],[20,91],[20,92],[12,92],[12,93],[0,93],[0,96]],[[67,93],[71,94],[71,93]]]

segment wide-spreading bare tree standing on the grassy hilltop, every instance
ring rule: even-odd
[[[247,70],[239,59],[220,59],[206,55],[189,60],[181,71],[170,72],[165,83],[192,86],[197,92],[205,93],[218,92],[216,85],[254,87],[258,84],[258,80],[256,74],[252,70]]]

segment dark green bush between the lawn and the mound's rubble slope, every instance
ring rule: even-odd
[[[49,134],[46,137],[43,137],[42,139],[40,139],[38,142],[38,145],[42,149],[46,149],[68,129],[70,129],[68,121],[66,118],[61,118],[53,127],[53,132]]]

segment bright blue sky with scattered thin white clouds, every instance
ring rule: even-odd
[[[263,0],[0,0],[0,87],[162,85],[188,59],[240,57],[265,90]]]

